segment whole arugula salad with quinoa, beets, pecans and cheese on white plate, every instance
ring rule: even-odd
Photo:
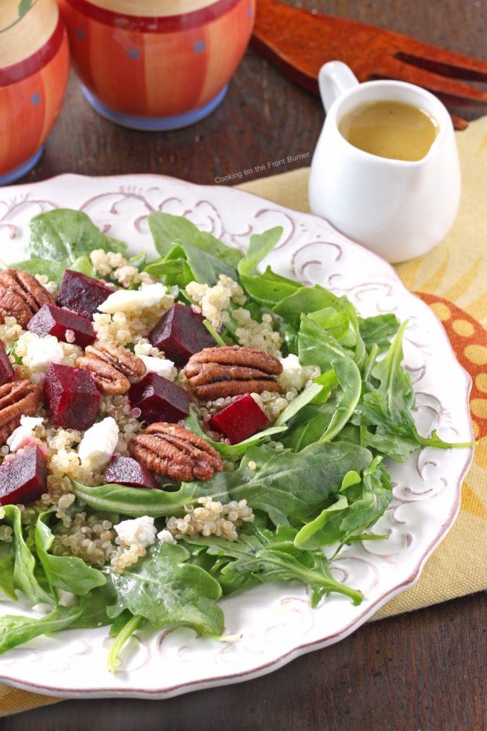
[[[239,251],[184,217],[151,213],[148,226],[157,258],[129,257],[80,211],[42,213],[30,224],[30,258],[0,273],[0,591],[12,601],[20,592],[37,611],[0,617],[0,653],[109,626],[116,670],[146,624],[224,637],[219,599],[259,583],[300,580],[312,607],[332,592],[360,605],[363,594],[331,567],[344,546],[387,539],[371,528],[393,498],[388,461],[423,445],[469,446],[418,433],[402,366],[407,322],[361,317],[346,297],[261,266],[282,229]],[[100,301],[85,311],[76,292],[85,308]],[[170,340],[154,336],[176,314],[198,318],[219,375],[205,371],[205,348],[179,360],[178,348],[191,351],[184,333],[174,357]],[[273,359],[276,371],[252,360],[247,380],[227,375],[235,366],[219,355],[237,350]],[[197,391],[188,358],[207,390]],[[174,412],[148,409],[127,366],[139,361],[153,391],[179,399]],[[74,417],[56,401],[60,388],[69,398],[86,389]],[[219,414],[238,415],[244,397],[258,418],[219,431],[228,423]],[[251,433],[238,438],[241,428]],[[173,442],[190,480],[174,477]],[[208,454],[216,466],[198,479],[202,449],[203,466]]]

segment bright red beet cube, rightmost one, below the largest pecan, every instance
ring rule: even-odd
[[[249,393],[244,393],[221,412],[214,414],[208,425],[223,434],[230,444],[238,444],[268,423],[269,420],[260,406]]]

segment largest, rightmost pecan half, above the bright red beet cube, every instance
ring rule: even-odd
[[[184,374],[203,401],[241,393],[281,391],[276,382],[276,376],[282,374],[281,363],[273,355],[253,348],[205,348],[189,358]]]

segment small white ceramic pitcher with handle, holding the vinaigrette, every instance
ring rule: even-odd
[[[319,82],[327,114],[309,178],[312,212],[389,262],[425,254],[448,232],[460,202],[460,166],[448,110],[413,84],[360,84],[341,61],[325,64]],[[423,159],[375,156],[342,137],[344,114],[379,101],[415,105],[437,120],[439,132]]]

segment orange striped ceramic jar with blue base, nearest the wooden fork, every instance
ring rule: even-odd
[[[58,0],[91,105],[135,129],[193,124],[222,101],[255,0]]]

